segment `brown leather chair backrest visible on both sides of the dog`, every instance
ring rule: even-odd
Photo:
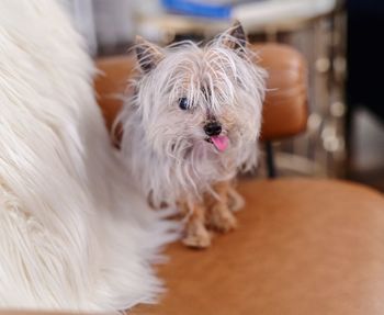
[[[260,56],[260,66],[269,72],[262,138],[278,139],[303,132],[307,121],[304,58],[295,49],[281,44],[255,45],[253,49]],[[109,128],[122,105],[116,94],[124,92],[135,63],[132,56],[97,60],[101,75],[95,80],[95,89]]]

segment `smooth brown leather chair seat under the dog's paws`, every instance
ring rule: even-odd
[[[384,314],[384,198],[332,180],[244,181],[239,228],[167,249],[168,293],[131,314]]]

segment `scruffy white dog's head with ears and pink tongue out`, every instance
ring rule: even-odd
[[[259,135],[264,94],[264,72],[241,25],[205,47],[137,42],[136,104],[153,149],[181,159],[241,158],[244,145]]]

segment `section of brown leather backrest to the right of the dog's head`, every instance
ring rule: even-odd
[[[296,135],[307,122],[307,68],[303,56],[281,44],[253,45],[268,71],[261,138],[273,140]]]

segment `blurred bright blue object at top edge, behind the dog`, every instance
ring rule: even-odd
[[[203,3],[196,0],[161,0],[161,3],[168,11],[193,16],[229,19],[231,12],[230,4]]]

